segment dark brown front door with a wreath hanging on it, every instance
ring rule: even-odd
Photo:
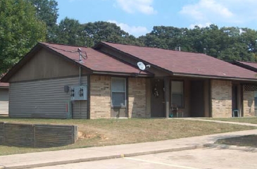
[[[161,78],[151,80],[151,117],[164,118],[164,81]]]

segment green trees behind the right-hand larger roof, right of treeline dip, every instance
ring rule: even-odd
[[[225,61],[257,61],[257,32],[248,28],[155,26],[139,41],[145,46],[208,54]]]

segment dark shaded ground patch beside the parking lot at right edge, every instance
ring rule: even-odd
[[[227,139],[218,139],[215,144],[227,144],[234,146],[251,146],[257,148],[257,135],[246,135],[242,137],[232,137]]]

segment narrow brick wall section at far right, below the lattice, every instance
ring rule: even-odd
[[[244,90],[244,117],[252,117],[255,115],[254,112],[254,91]]]

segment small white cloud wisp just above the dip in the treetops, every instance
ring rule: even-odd
[[[125,23],[118,23],[115,20],[108,20],[107,22],[115,23],[117,26],[120,27],[120,29],[124,30],[125,32],[128,32],[130,35],[134,35],[134,37],[146,35],[146,33],[149,32],[147,28],[143,26],[130,26]]]

